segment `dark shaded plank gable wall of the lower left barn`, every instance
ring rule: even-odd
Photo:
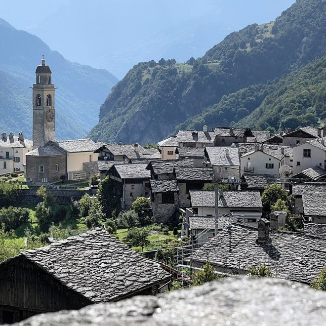
[[[14,309],[14,321],[18,316],[23,319],[41,312],[80,309],[90,303],[24,257],[0,268],[0,310]]]

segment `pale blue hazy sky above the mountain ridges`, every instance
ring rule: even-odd
[[[0,0],[0,17],[70,61],[122,78],[140,61],[186,61],[294,0]]]

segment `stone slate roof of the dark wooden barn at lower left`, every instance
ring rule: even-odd
[[[116,300],[170,278],[159,264],[100,229],[20,255],[93,302]]]

